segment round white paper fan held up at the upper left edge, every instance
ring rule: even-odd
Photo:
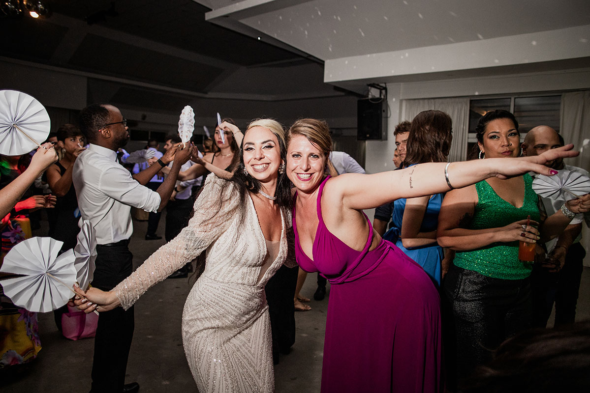
[[[34,97],[0,90],[0,154],[18,156],[41,146],[50,126],[47,110]]]

